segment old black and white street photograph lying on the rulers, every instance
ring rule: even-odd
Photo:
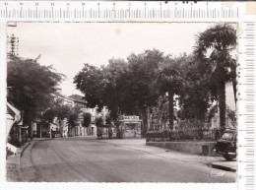
[[[235,183],[237,23],[7,23],[6,181]]]

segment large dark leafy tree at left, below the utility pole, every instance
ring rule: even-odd
[[[7,64],[7,97],[20,110],[24,110],[24,125],[31,126],[32,120],[47,109],[64,75],[52,66],[41,66],[38,59],[23,59],[11,56]]]

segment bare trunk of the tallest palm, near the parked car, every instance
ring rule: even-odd
[[[220,108],[220,126],[221,130],[225,128],[225,83],[222,81],[218,88],[219,108]]]

